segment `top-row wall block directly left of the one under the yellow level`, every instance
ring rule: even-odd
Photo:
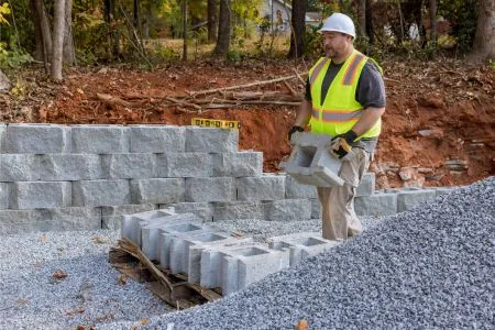
[[[130,125],[131,153],[176,153],[186,150],[186,129],[173,125]]]

